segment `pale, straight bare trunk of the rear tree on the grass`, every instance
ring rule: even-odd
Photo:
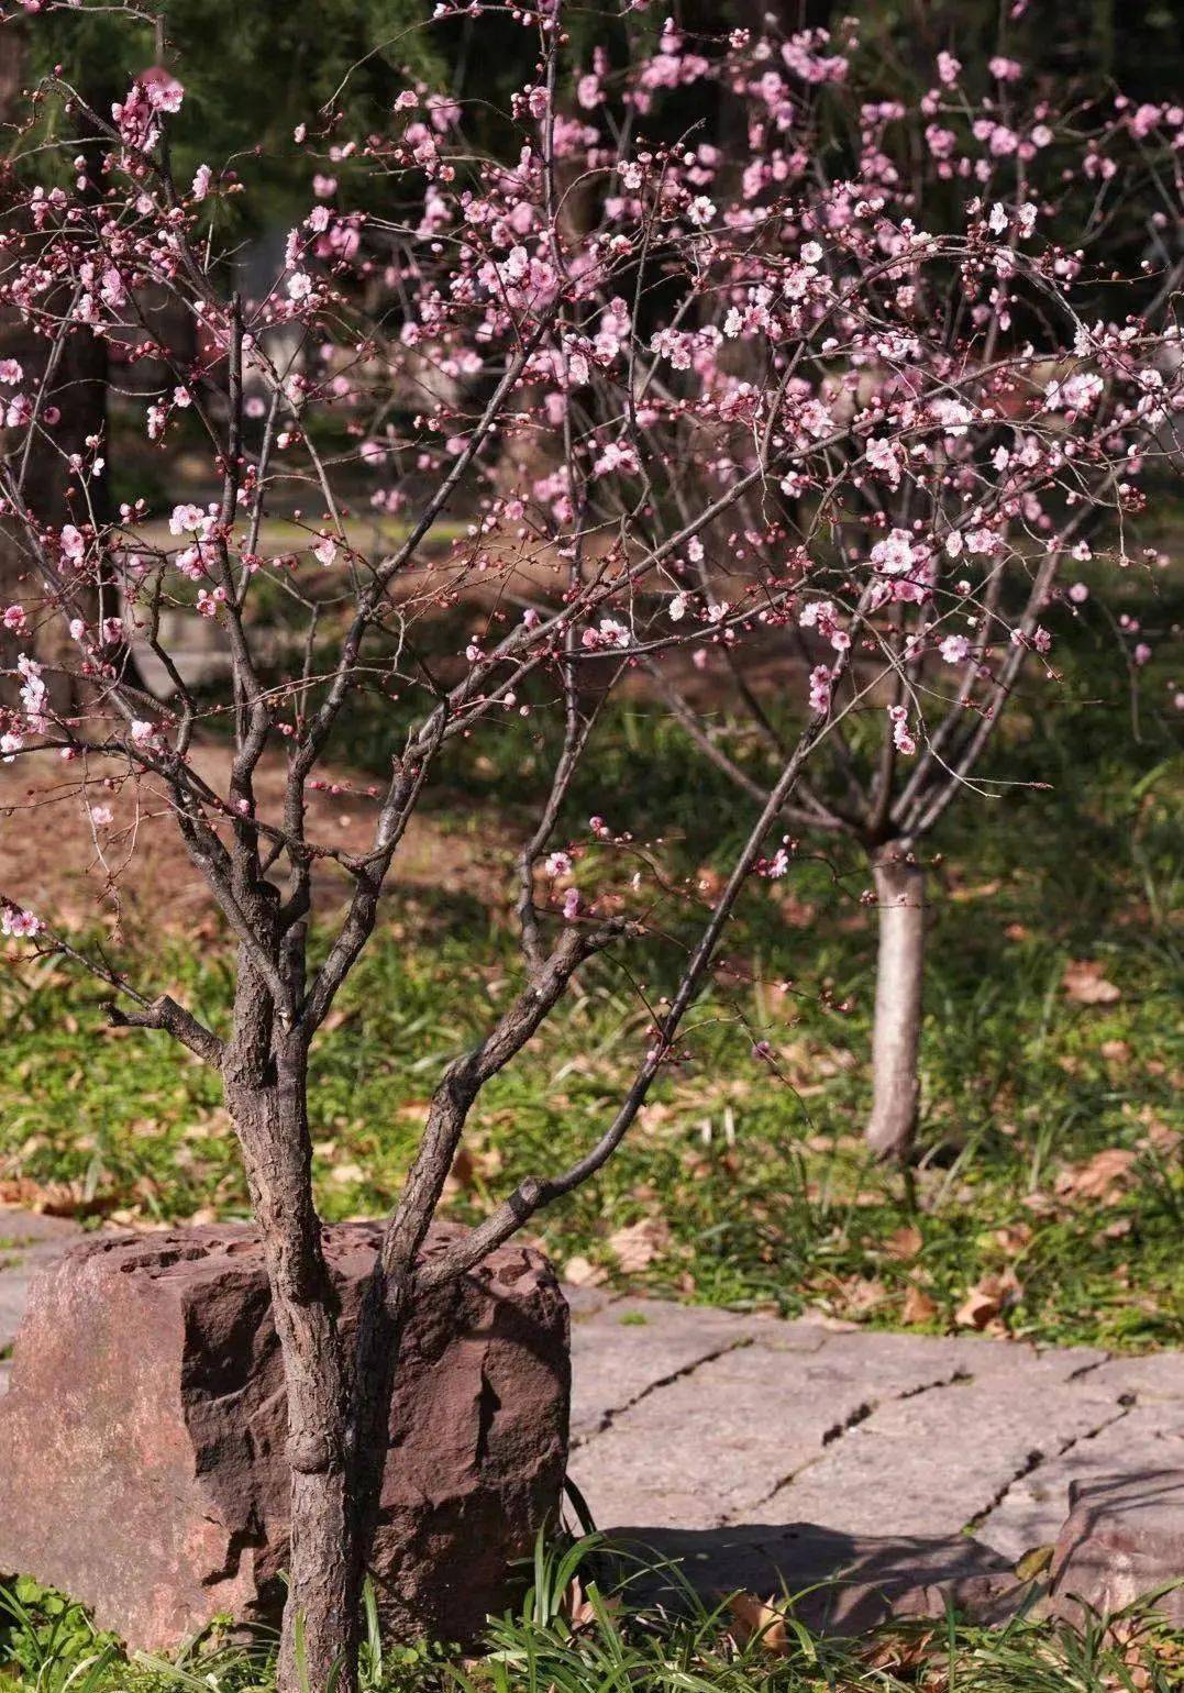
[[[879,951],[872,1026],[872,1114],[867,1144],[881,1158],[905,1158],[916,1131],[925,982],[925,872],[899,841],[872,857]]]

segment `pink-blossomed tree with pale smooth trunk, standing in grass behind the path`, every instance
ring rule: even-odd
[[[784,816],[855,843],[871,870],[867,1141],[893,1158],[910,1151],[920,1099],[923,843],[960,796],[1003,794],[981,762],[1021,674],[1055,684],[1055,625],[1087,598],[1076,581],[1087,560],[1103,593],[1123,571],[1165,562],[1137,543],[1137,477],[1172,462],[1179,411],[1157,347],[1176,339],[1184,107],[1118,98],[1065,115],[1047,88],[1026,95],[1018,61],[996,54],[988,73],[976,95],[940,52],[932,88],[910,103],[881,97],[854,36],[842,52],[820,32],[739,52],[732,88],[752,146],[740,198],[757,218],[772,185],[793,183],[803,240],[779,290],[793,306],[757,283],[698,340],[654,340],[659,381],[676,389],[711,335],[710,356],[759,389],[786,310],[811,322],[857,281],[869,312],[859,344],[811,344],[786,413],[799,438],[830,437],[837,418],[855,427],[783,477],[779,503],[754,489],[683,555],[684,616],[715,615],[740,555],[799,572],[806,589],[767,618],[779,633],[757,665],[752,643],[723,647],[732,721],[720,721],[718,689],[696,709],[645,662],[698,748],[754,797],[766,784],[745,748],[776,764],[786,684],[805,709],[852,706]],[[828,134],[844,139],[828,146]],[[1115,254],[1131,247],[1133,267],[1116,273]],[[749,462],[674,454],[667,496],[688,515]],[[874,599],[849,657],[850,572],[866,569]],[[1123,637],[1143,664],[1150,648],[1128,620]]]

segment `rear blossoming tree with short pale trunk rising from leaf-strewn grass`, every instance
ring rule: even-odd
[[[854,59],[852,80],[866,64]],[[837,364],[828,379],[832,410],[835,403],[867,405],[882,430],[855,442],[862,466],[845,459],[845,449],[833,450],[833,486],[789,479],[781,488],[781,521],[769,521],[767,496],[761,506],[749,503],[745,527],[737,530],[730,515],[694,565],[700,604],[727,593],[740,543],[764,552],[769,569],[786,549],[805,547],[813,555],[825,545],[840,567],[844,559],[881,559],[899,577],[877,650],[867,637],[845,684],[862,696],[855,718],[832,738],[823,767],[788,811],[796,830],[845,838],[866,855],[879,924],[867,1141],[877,1155],[896,1158],[910,1151],[920,1099],[925,841],[959,796],[1004,797],[984,779],[981,760],[1021,674],[1055,681],[1047,623],[1055,625],[1059,606],[1062,616],[1072,616],[1076,596],[1084,598],[1077,577],[1098,537],[1101,545],[1118,542],[1123,565],[1154,571],[1159,559],[1155,549],[1138,554],[1130,538],[1118,540],[1126,537],[1131,511],[1125,467],[1106,452],[1072,457],[1072,427],[1094,411],[1106,438],[1108,418],[1123,428],[1142,415],[1154,466],[1165,460],[1172,433],[1162,372],[1145,376],[1145,398],[1133,413],[1125,401],[1109,413],[1116,396],[1106,394],[1096,376],[1082,374],[1081,357],[1089,349],[1084,325],[1111,313],[1121,322],[1138,305],[1152,320],[1170,323],[1181,261],[1164,213],[1174,193],[1165,191],[1172,174],[1165,159],[1179,108],[1135,108],[1121,100],[1108,100],[1101,110],[1079,107],[1094,117],[1113,112],[1103,119],[1113,127],[1104,144],[1086,142],[1077,173],[1065,168],[1064,141],[1047,122],[1047,78],[1028,90],[1026,68],[1008,58],[982,69],[982,91],[976,93],[960,63],[942,49],[911,108],[879,102],[879,69],[864,73],[857,134],[844,134],[849,102],[838,105],[825,85],[793,105],[794,141],[811,157],[813,203],[803,212],[803,232],[823,232],[835,201],[859,195],[877,207],[894,205],[901,218],[925,229],[943,227],[955,200],[974,185],[982,234],[996,242],[989,288],[982,291],[982,271],[972,266],[950,267],[940,286],[927,286],[918,269],[916,283],[903,291],[899,274],[889,273],[886,310],[889,298],[906,296],[908,340],[893,345],[886,339],[876,357]],[[771,74],[762,73],[766,80]],[[776,98],[789,105],[789,93],[783,76],[776,81],[781,86],[762,135],[781,161]],[[749,110],[755,91],[752,85],[745,90]],[[759,191],[759,183],[757,174],[749,191]],[[1037,227],[1047,230],[1054,256],[1038,274],[1025,276],[1015,252]],[[891,251],[888,239],[882,251]],[[1115,271],[1123,257],[1128,267]],[[1071,271],[1076,288],[1067,306],[1062,278]],[[835,286],[845,281],[837,271],[832,278]],[[766,345],[761,312],[737,313],[732,367],[759,381]],[[920,366],[935,386],[950,384],[928,411],[916,406]],[[935,432],[928,438],[927,428]],[[1045,454],[1055,459],[1057,444],[1067,455],[1047,477]],[[1043,469],[1033,483],[1037,460]],[[700,462],[678,460],[671,496],[684,513],[711,493]],[[984,499],[998,499],[994,515]],[[967,616],[960,594],[971,593],[971,584],[974,608]],[[730,725],[718,720],[715,706],[711,714],[696,709],[686,689],[652,665],[698,748],[742,791],[755,794],[762,786],[754,745],[777,757],[786,684],[813,667],[811,686],[825,692],[827,664],[820,660],[833,615],[835,604],[818,601],[808,608],[808,621],[799,616],[779,640],[769,640],[761,665],[725,665],[735,703]],[[932,726],[921,745],[906,728],[920,694]]]

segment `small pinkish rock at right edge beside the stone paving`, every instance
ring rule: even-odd
[[[1169,1583],[1155,1608],[1184,1629],[1184,1470],[1143,1470],[1069,1490],[1052,1561],[1054,1607],[1113,1613]]]

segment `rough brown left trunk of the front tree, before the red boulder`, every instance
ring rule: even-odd
[[[273,1028],[266,989],[241,960],[227,1107],[242,1143],[288,1390],[291,1552],[279,1693],[351,1693],[357,1664],[352,1512],[346,1466],[349,1376],[337,1297],[312,1200],[308,1073],[300,1041]]]

